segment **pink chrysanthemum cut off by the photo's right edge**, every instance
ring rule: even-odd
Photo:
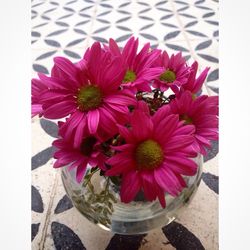
[[[195,141],[192,144],[196,152],[206,155],[210,140],[218,140],[218,96],[202,95],[194,98],[185,91],[179,98],[171,101],[170,113],[178,114],[185,124],[195,126]]]

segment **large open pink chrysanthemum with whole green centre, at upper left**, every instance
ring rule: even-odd
[[[121,58],[96,42],[77,64],[63,57],[54,58],[54,62],[51,77],[39,74],[49,88],[39,96],[44,117],[70,115],[64,127],[68,136],[75,135],[75,146],[79,146],[85,127],[93,135],[100,130],[107,136],[114,135],[116,123],[125,119],[128,106],[136,103],[129,90],[119,89],[125,74]]]

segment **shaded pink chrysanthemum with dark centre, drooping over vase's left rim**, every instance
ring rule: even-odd
[[[63,123],[60,124],[60,127]],[[74,147],[73,138],[66,140],[61,138],[55,140],[52,144],[58,148],[54,158],[57,159],[54,163],[54,168],[68,166],[69,170],[76,168],[76,180],[81,182],[87,165],[91,167],[98,166],[102,170],[106,170],[104,162],[106,156],[100,151],[100,142],[93,135],[85,134],[81,138],[79,147]]]

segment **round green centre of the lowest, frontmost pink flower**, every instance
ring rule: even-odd
[[[153,140],[140,143],[135,151],[137,169],[154,169],[163,161],[163,151],[160,145]]]

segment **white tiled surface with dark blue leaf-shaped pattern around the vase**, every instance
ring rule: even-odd
[[[49,73],[54,56],[75,62],[94,41],[130,35],[169,53],[182,51],[200,71],[210,67],[203,92],[219,93],[218,1],[216,0],[33,0],[32,76]],[[54,122],[32,119],[32,249],[218,249],[218,143],[204,158],[193,201],[170,225],[147,235],[113,235],[83,218],[52,168]]]

